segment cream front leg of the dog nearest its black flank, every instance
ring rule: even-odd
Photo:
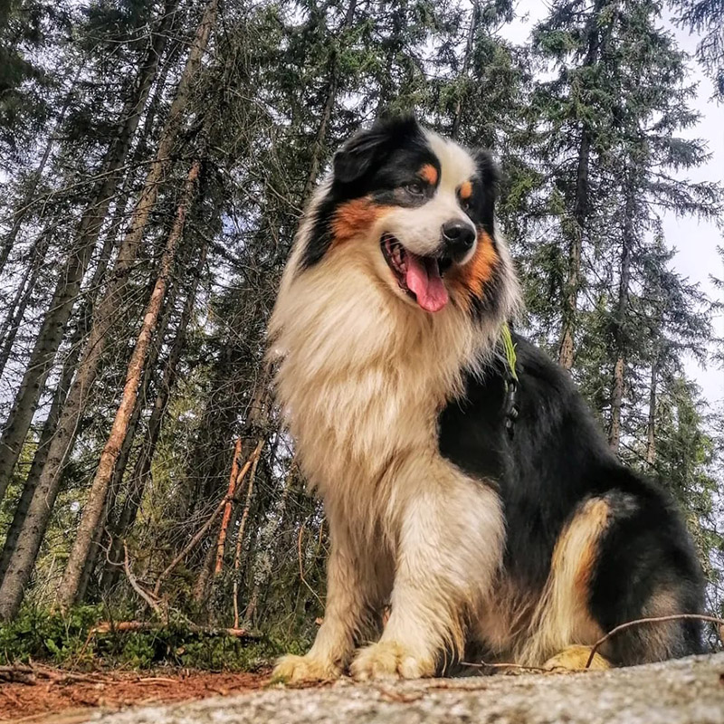
[[[379,642],[352,662],[358,680],[433,676],[443,653],[462,653],[465,618],[490,590],[504,533],[498,495],[458,476],[439,475],[408,500],[392,613]]]

